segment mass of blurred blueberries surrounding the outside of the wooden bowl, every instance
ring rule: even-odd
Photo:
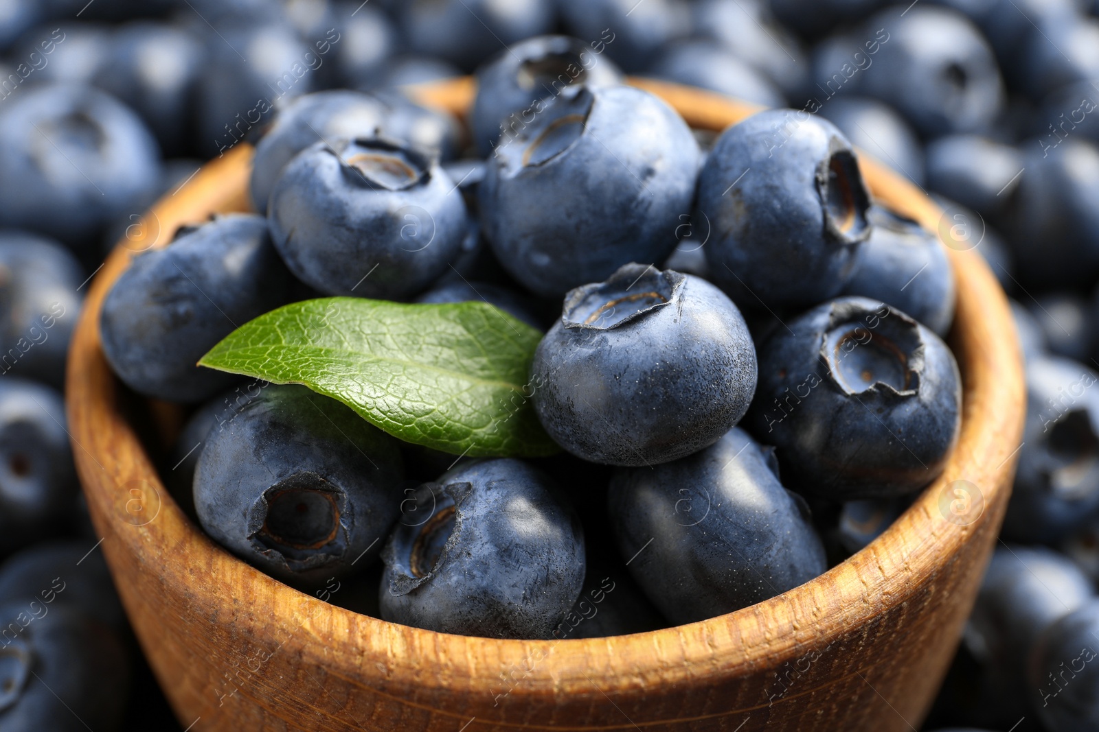
[[[0,0],[0,611],[68,608],[16,621],[0,676],[33,641],[51,649],[42,678],[14,680],[55,673],[71,707],[43,694],[21,718],[4,683],[0,731],[181,729],[118,611],[64,429],[66,346],[107,252],[297,97],[376,92],[409,128],[437,125],[393,94],[547,33],[599,43],[628,75],[828,117],[943,205],[951,246],[986,258],[1023,341],[1026,436],[925,729],[1099,729],[1048,703],[1077,692],[1094,709],[1096,671],[1075,686],[1043,673],[1077,645],[1099,651],[1099,2]],[[428,134],[451,158],[484,142]],[[851,551],[888,526],[866,516],[900,510],[864,503],[844,509]]]

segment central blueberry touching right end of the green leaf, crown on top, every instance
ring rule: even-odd
[[[534,408],[574,455],[653,465],[712,444],[755,392],[752,337],[712,284],[628,264],[577,288],[531,364]]]

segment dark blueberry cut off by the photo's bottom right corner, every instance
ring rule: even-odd
[[[1042,634],[1028,665],[1031,706],[1054,732],[1089,732],[1099,725],[1099,600],[1091,599]]]

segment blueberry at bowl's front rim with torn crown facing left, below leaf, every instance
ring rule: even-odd
[[[564,496],[518,460],[460,466],[406,502],[386,544],[384,620],[459,635],[550,638],[585,576]]]

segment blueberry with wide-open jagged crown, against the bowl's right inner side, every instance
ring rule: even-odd
[[[939,476],[962,409],[958,368],[939,336],[865,297],[786,326],[759,349],[747,425],[778,448],[788,485],[851,500],[900,496]]]

